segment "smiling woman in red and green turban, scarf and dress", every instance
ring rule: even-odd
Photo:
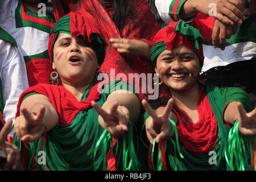
[[[255,169],[256,109],[249,112],[249,98],[240,88],[199,81],[202,35],[180,20],[153,40],[152,63],[172,98],[156,111],[142,101],[148,164],[156,170],[246,170],[250,161]]]

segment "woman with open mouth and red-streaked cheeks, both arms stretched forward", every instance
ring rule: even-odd
[[[139,168],[131,123],[139,117],[139,100],[126,82],[97,83],[101,35],[85,11],[53,27],[48,50],[62,85],[39,84],[20,96],[13,142],[22,148],[23,169]]]

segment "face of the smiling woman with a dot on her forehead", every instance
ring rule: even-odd
[[[180,46],[165,50],[156,59],[155,72],[171,90],[186,91],[197,85],[201,72],[199,57],[191,49]]]

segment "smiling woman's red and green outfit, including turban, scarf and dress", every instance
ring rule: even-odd
[[[182,20],[171,22],[156,34],[151,49],[152,61],[165,49],[180,45],[190,48],[203,61],[200,31]],[[203,64],[201,64],[203,65]],[[238,121],[230,128],[224,123],[223,114],[230,102],[241,102],[246,111],[250,109],[249,97],[240,88],[218,88],[210,84],[200,85],[197,101],[199,121],[192,123],[188,114],[174,107],[177,124],[172,123],[170,136],[160,142],[155,156],[155,140],[149,146],[148,164],[156,170],[251,170],[255,169],[255,137],[242,136]],[[144,114],[144,121],[149,117]],[[248,154],[250,154],[248,156]],[[213,156],[214,155],[214,156]],[[213,158],[211,158],[213,156]],[[154,159],[155,162],[154,163]],[[250,159],[250,167],[248,160]]]

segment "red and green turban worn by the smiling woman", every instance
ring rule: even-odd
[[[204,38],[197,28],[190,26],[183,20],[171,22],[168,26],[162,28],[152,41],[154,45],[150,52],[152,63],[155,64],[156,58],[164,50],[172,50],[183,45],[195,52],[201,61],[201,65],[203,65],[203,41]]]

